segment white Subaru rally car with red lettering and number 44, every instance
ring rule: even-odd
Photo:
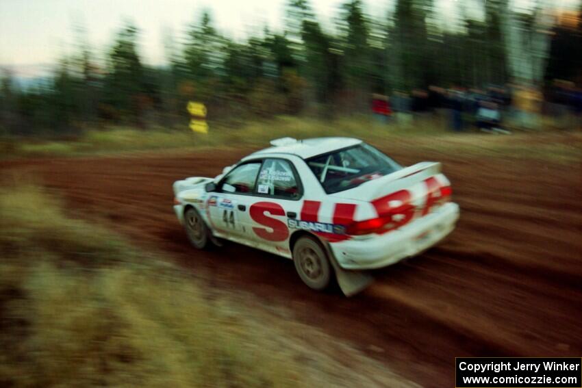
[[[197,248],[219,239],[293,259],[303,282],[346,294],[455,228],[459,206],[440,163],[402,167],[353,138],[273,140],[216,178],[173,185],[174,210]]]

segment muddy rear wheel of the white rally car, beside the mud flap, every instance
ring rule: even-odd
[[[331,283],[332,270],[325,249],[314,237],[300,237],[293,246],[295,270],[307,287],[321,291]]]

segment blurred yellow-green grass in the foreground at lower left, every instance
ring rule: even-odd
[[[175,266],[69,218],[35,185],[4,183],[1,386],[309,385]]]

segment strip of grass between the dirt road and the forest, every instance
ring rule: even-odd
[[[8,157],[71,157],[111,155],[127,152],[196,151],[203,148],[260,148],[269,140],[292,136],[349,136],[362,138],[388,148],[414,147],[436,153],[464,153],[485,157],[544,159],[560,163],[579,161],[582,135],[579,131],[488,135],[476,132],[452,133],[444,120],[427,118],[409,125],[382,125],[368,116],[353,116],[323,121],[313,118],[282,116],[273,120],[253,121],[242,127],[211,124],[210,133],[192,133],[183,129],[142,131],[128,127],[86,131],[75,140],[27,142],[5,140],[0,144]]]

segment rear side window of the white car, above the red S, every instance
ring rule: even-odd
[[[289,161],[266,159],[259,173],[257,193],[299,199],[299,184]]]

